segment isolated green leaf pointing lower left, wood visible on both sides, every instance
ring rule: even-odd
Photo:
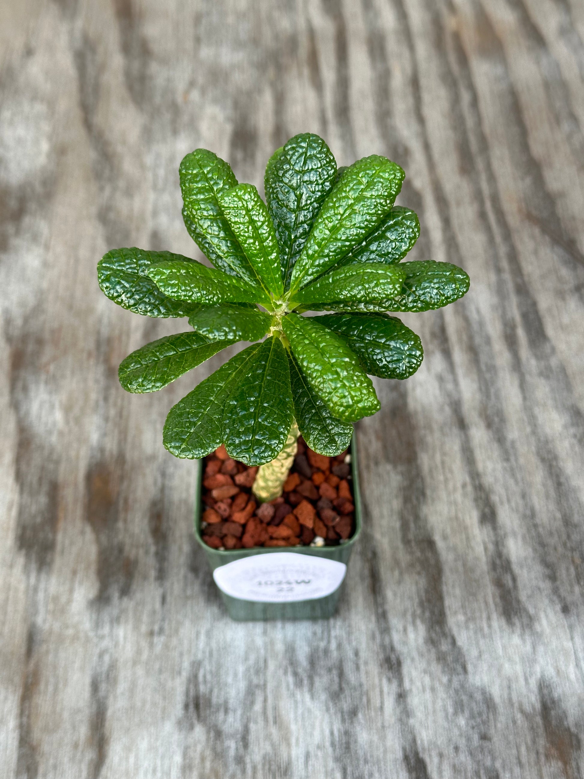
[[[178,333],[146,344],[121,361],[120,384],[133,393],[161,390],[235,340],[210,340],[199,333]]]

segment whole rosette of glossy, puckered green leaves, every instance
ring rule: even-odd
[[[406,379],[420,338],[395,312],[452,303],[469,277],[449,263],[402,263],[420,233],[396,206],[404,173],[372,155],[337,170],[311,133],[290,139],[266,168],[266,202],[227,162],[197,149],[181,162],[185,225],[213,264],[114,249],[98,265],[115,303],[190,330],[132,352],[119,368],[132,393],[160,390],[237,341],[252,341],[171,408],[164,446],[200,458],[224,443],[248,465],[274,460],[294,419],[311,449],[334,456],[352,424],[375,414],[371,375]],[[309,310],[329,312],[304,317]]]

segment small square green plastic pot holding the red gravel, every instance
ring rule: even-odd
[[[294,552],[297,555],[313,555],[323,557],[336,562],[344,562],[348,565],[353,546],[361,533],[361,493],[359,492],[359,465],[357,460],[357,440],[355,436],[350,445],[351,471],[353,475],[353,492],[355,502],[355,532],[347,541],[339,546],[322,547],[283,547],[252,549],[230,549],[221,552],[206,545],[201,537],[201,485],[202,485],[202,460],[197,461],[196,490],[195,490],[195,538],[202,546],[209,566],[214,571],[219,566],[225,566],[228,562],[241,560],[252,555],[279,555],[282,552]],[[345,579],[347,576],[345,576]],[[339,602],[339,596],[343,590],[343,583],[331,594],[325,597],[311,599],[309,601],[291,601],[288,603],[258,603],[256,601],[244,601],[241,598],[230,597],[220,590],[223,603],[231,619],[238,622],[266,619],[327,619],[335,613]]]

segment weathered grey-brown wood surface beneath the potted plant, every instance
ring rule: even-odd
[[[5,0],[0,41],[0,775],[582,777],[582,2]],[[161,445],[192,376],[116,376],[184,323],[95,266],[193,252],[189,150],[261,185],[304,130],[402,164],[472,287],[359,425],[339,614],[241,625]]]

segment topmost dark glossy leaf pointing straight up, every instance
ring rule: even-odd
[[[336,161],[329,146],[311,132],[290,138],[269,159],[264,178],[266,201],[280,244],[286,286],[335,178]]]

